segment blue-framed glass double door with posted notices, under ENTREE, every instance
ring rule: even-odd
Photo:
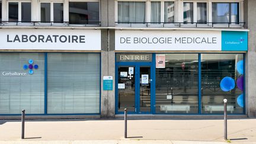
[[[118,66],[117,112],[151,113],[151,66]]]

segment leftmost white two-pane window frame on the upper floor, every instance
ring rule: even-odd
[[[9,21],[9,2],[17,2],[18,3],[18,22],[14,22],[14,21]],[[12,23],[18,23],[18,24],[20,24],[20,23],[22,23],[22,24],[31,24],[31,23],[24,23],[24,22],[21,22],[21,3],[23,3],[23,2],[30,2],[30,4],[31,4],[31,15],[30,15],[30,17],[31,17],[31,21],[33,21],[33,18],[32,18],[32,16],[33,16],[33,3],[32,3],[32,1],[25,1],[25,0],[23,0],[23,1],[7,1],[7,5],[6,5],[6,15],[7,15],[7,21],[8,21],[8,23],[10,23],[10,24],[12,24]]]

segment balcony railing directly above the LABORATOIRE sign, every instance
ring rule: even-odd
[[[79,27],[89,27],[89,26],[100,26],[100,21],[88,21],[88,22],[81,22],[81,21],[0,21],[0,26],[79,26]]]

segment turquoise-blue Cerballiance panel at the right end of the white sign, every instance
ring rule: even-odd
[[[222,31],[223,51],[247,51],[248,32],[247,31]]]

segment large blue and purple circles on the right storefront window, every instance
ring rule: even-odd
[[[236,63],[236,70],[241,75],[236,80],[236,85],[238,89],[241,91],[244,91],[244,61],[240,60],[238,63]],[[235,88],[235,80],[229,76],[226,76],[225,78],[220,81],[220,88],[222,91],[231,91]],[[244,107],[244,95],[241,94],[236,98],[236,102],[239,105],[239,107]]]

